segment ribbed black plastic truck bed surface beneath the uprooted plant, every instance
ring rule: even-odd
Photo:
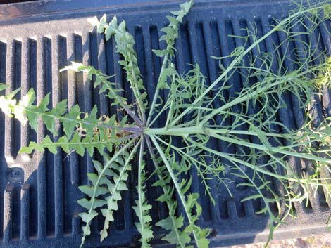
[[[149,2],[149,3],[147,3]],[[139,57],[139,67],[146,89],[154,91],[154,82],[161,67],[161,60],[154,56],[151,48],[159,48],[161,29],[166,23],[165,15],[176,9],[177,1],[35,1],[33,3],[0,6],[0,81],[6,81],[12,89],[22,87],[26,93],[35,88],[40,99],[51,92],[52,104],[68,98],[70,106],[79,103],[82,110],[89,111],[94,104],[103,113],[114,110],[108,99],[98,96],[92,83],[82,74],[59,73],[71,60],[92,64],[107,74],[116,74],[115,81],[128,89],[123,82],[123,72],[117,63],[113,41],[105,43],[102,35],[87,23],[88,17],[109,17],[116,14],[125,19],[128,30],[134,34]],[[228,34],[242,34],[242,27],[255,23],[258,35],[266,33],[273,18],[287,15],[289,1],[246,1],[220,0],[196,1],[192,11],[180,28],[177,41],[177,68],[180,72],[189,70],[188,64],[199,63],[208,83],[218,77],[218,62],[210,56],[225,56],[241,40]],[[331,49],[330,37],[325,27],[316,32],[320,35],[320,48]],[[281,35],[270,37],[261,46],[270,51],[272,42],[284,39]],[[294,44],[295,46],[296,44]],[[240,77],[233,81],[234,89],[240,87]],[[230,91],[229,91],[230,94]],[[130,98],[130,96],[128,96]],[[302,122],[303,113],[296,107],[294,98],[285,98],[288,108],[280,112],[280,120],[295,128]],[[330,91],[316,98],[316,119],[331,115]],[[80,218],[82,209],[77,200],[83,195],[78,185],[86,184],[88,171],[93,171],[92,159],[76,154],[45,155],[35,153],[23,157],[17,152],[30,141],[40,141],[46,134],[42,129],[36,134],[18,122],[5,118],[0,113],[0,247],[78,247],[81,235]],[[222,145],[214,144],[214,145]],[[301,168],[299,161],[294,161]],[[151,167],[151,164],[148,164]],[[135,247],[137,233],[131,209],[135,199],[135,172],[130,177],[130,188],[123,195],[123,202],[115,214],[111,234],[99,242],[101,222],[92,225],[92,235],[85,247]],[[197,176],[192,171],[193,190],[204,195]],[[240,200],[252,192],[247,188],[236,188],[230,184],[234,197],[224,187],[211,181],[216,195],[216,206],[207,197],[201,197],[204,209],[201,224],[213,229],[213,246],[242,244],[266,240],[268,217],[254,214],[261,209],[261,202],[241,203]],[[149,187],[151,187],[149,185]],[[277,188],[277,185],[274,185]],[[156,203],[156,190],[149,190],[149,201],[153,204],[151,214],[154,223],[165,217],[165,207]],[[325,203],[323,192],[318,191],[316,200],[296,204],[299,220],[288,220],[275,233],[275,238],[298,237],[325,231],[325,222],[331,214],[331,202]],[[156,230],[157,232],[157,230]],[[157,237],[156,246],[163,247]]]

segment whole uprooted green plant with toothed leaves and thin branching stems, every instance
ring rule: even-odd
[[[94,161],[94,173],[87,174],[90,185],[80,186],[86,195],[78,201],[86,209],[80,214],[84,223],[81,247],[88,242],[85,239],[91,234],[91,222],[98,215],[104,219],[101,241],[108,236],[113,214],[122,200],[121,193],[128,190],[127,178],[132,167],[137,167],[138,174],[135,188],[138,198],[132,206],[139,220],[135,226],[141,235],[141,246],[151,247],[154,228],[151,202],[146,197],[149,190],[146,182],[151,178],[145,169],[146,157],[152,159],[153,174],[158,176],[153,185],[162,190],[157,200],[164,202],[168,209],[168,217],[156,226],[165,231],[162,240],[176,247],[205,248],[209,244],[210,230],[199,226],[203,209],[199,193],[191,187],[193,168],[213,203],[208,184],[211,178],[225,187],[231,176],[244,178],[246,181],[238,186],[253,188],[255,193],[242,201],[260,199],[263,209],[259,212],[270,216],[268,241],[282,220],[292,215],[293,202],[308,201],[309,192],[317,188],[323,188],[327,197],[330,195],[331,181],[325,178],[331,162],[330,117],[314,126],[308,111],[312,95],[323,87],[330,87],[330,58],[324,51],[313,48],[311,40],[297,39],[302,32],[293,31],[305,25],[304,35],[312,35],[318,25],[325,25],[325,20],[330,19],[330,3],[297,4],[287,18],[275,21],[262,37],[257,36],[254,27],[246,30],[243,46],[237,46],[229,56],[215,58],[221,72],[210,84],[206,84],[199,65],[192,65],[192,70],[185,74],[175,69],[175,41],[192,5],[193,1],[181,4],[178,11],[167,16],[169,24],[161,29],[160,41],[165,42],[166,48],[154,50],[163,64],[151,103],[147,101],[144,79],[137,65],[135,41],[127,32],[125,21],[119,22],[116,16],[110,22],[106,15],[89,22],[104,34],[106,41],[115,41],[116,52],[123,58],[119,64],[126,72],[134,101],[130,103],[123,96],[123,90],[111,81],[112,77],[90,65],[73,62],[63,70],[86,73],[99,93],[104,93],[111,104],[121,110],[120,114],[98,116],[96,106],[88,113],[82,112],[78,105],[68,111],[66,100],[49,109],[49,94],[36,105],[33,89],[16,100],[19,89],[9,92],[5,84],[0,84],[0,91],[6,90],[6,95],[0,96],[0,109],[6,115],[35,130],[37,122],[42,120],[53,134],[41,143],[31,142],[20,152],[48,149],[55,154],[62,148],[81,156],[87,152],[92,157],[98,152],[104,158],[103,162]],[[261,44],[276,33],[285,35],[281,44],[285,51],[280,53],[280,46],[273,44],[274,51],[262,53]],[[301,43],[301,49],[290,50],[289,44],[294,41]],[[285,60],[293,62],[291,70]],[[239,91],[230,84],[237,73],[243,79]],[[167,92],[164,100],[161,100],[161,91]],[[278,112],[286,109],[284,96],[289,93],[297,99],[298,107],[306,111],[305,124],[298,130],[290,130],[277,121]],[[164,118],[164,126],[156,128],[160,118]],[[58,137],[55,120],[63,128],[61,137]],[[276,131],[279,129],[283,132]],[[215,148],[210,145],[211,140],[227,145]],[[234,145],[237,152],[230,149]],[[313,174],[298,174],[288,162],[289,157],[310,163]],[[225,174],[225,171],[230,172]],[[281,190],[270,187],[275,181]]]

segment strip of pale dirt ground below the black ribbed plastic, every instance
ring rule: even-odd
[[[264,244],[245,244],[232,246],[231,248],[264,248]],[[269,248],[331,248],[331,234],[311,235],[289,240],[274,240],[270,242]]]

